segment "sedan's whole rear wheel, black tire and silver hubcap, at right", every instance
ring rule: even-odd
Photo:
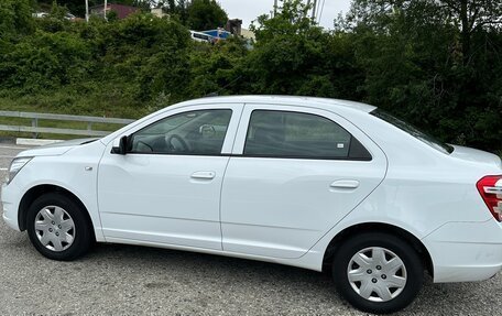
[[[340,294],[363,312],[386,314],[406,307],[424,279],[421,258],[388,233],[361,233],[335,253],[332,275]]]

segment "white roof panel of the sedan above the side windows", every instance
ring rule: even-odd
[[[376,107],[340,99],[299,97],[299,96],[229,96],[229,97],[206,97],[184,102],[184,105],[204,105],[214,102],[243,102],[243,103],[273,103],[291,106],[318,106],[326,109],[354,110],[361,112],[371,112]],[[306,105],[305,102],[308,102]]]

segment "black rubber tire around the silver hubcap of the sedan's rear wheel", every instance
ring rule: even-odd
[[[389,301],[381,301],[381,302],[375,302],[374,299],[380,299],[379,295],[376,292],[371,292],[372,294],[371,297],[364,298],[361,296],[357,290],[354,290],[351,285],[351,282],[349,281],[348,276],[348,270],[349,270],[349,263],[351,264],[352,270],[358,270],[362,266],[359,266],[359,264],[354,263],[352,261],[352,257],[354,257],[357,253],[361,252],[362,250],[365,249],[385,249],[395,254],[399,259],[401,259],[402,263],[404,264],[404,270],[399,270],[396,273],[405,273],[405,285],[400,292],[394,292],[396,293],[396,296],[393,298],[388,298]],[[369,253],[373,253],[371,250],[369,250]],[[389,255],[388,252],[384,252],[385,255]],[[385,259],[386,260],[386,259]],[[389,261],[390,262],[390,261]],[[373,263],[371,263],[373,264]],[[370,264],[370,265],[371,265]],[[378,263],[375,264],[379,265]],[[381,265],[379,265],[380,269],[382,269]],[[364,271],[365,268],[362,268],[360,270]],[[385,279],[388,280],[381,280],[383,276],[381,274],[376,275],[376,273],[381,273],[380,271],[374,271],[369,268],[365,270],[370,273],[370,271],[373,274],[369,274],[371,276],[371,283],[375,282],[385,282],[389,281],[386,275]],[[360,273],[360,274],[364,274]],[[407,305],[410,305],[418,294],[418,292],[422,288],[422,284],[424,282],[424,266],[422,264],[422,260],[418,257],[417,252],[415,249],[405,242],[404,240],[389,235],[389,233],[383,233],[383,232],[367,232],[367,233],[361,233],[358,236],[354,236],[348,240],[346,240],[340,248],[336,251],[334,255],[334,262],[332,262],[332,277],[335,280],[335,284],[337,286],[338,292],[341,294],[341,296],[347,299],[350,304],[352,304],[356,308],[367,312],[367,313],[373,313],[373,314],[389,314],[389,313],[394,313],[397,310],[403,309]],[[361,277],[367,277],[367,276],[361,276]],[[380,281],[379,281],[380,280]],[[365,281],[367,282],[367,281]],[[360,284],[358,288],[358,284]],[[353,286],[358,288],[358,291],[361,291],[363,287],[362,282],[353,282]],[[368,283],[370,284],[370,283]],[[381,283],[386,284],[386,283]],[[370,284],[370,286],[374,286],[374,284]],[[383,285],[383,286],[389,286],[389,285]],[[392,291],[397,291],[394,288],[391,288]],[[370,292],[370,291],[368,291]],[[390,293],[392,293],[390,291]],[[399,293],[399,294],[397,294]],[[394,294],[391,294],[394,295]],[[371,301],[373,299],[373,301]]]

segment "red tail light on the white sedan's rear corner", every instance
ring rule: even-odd
[[[502,175],[488,175],[476,186],[493,217],[502,221]]]

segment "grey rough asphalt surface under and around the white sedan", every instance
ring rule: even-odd
[[[0,144],[0,178],[21,149]],[[1,209],[1,208],[0,208]],[[97,244],[51,261],[0,220],[0,315],[365,315],[328,273],[165,249]],[[502,315],[502,274],[433,284],[400,315]]]

